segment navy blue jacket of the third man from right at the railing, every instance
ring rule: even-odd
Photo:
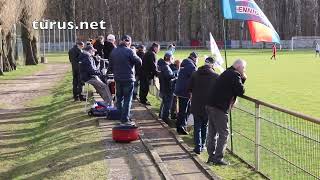
[[[191,75],[196,70],[196,64],[190,58],[187,58],[182,61],[174,91],[174,94],[176,96],[185,98],[190,97],[188,92],[188,86],[191,80]]]

